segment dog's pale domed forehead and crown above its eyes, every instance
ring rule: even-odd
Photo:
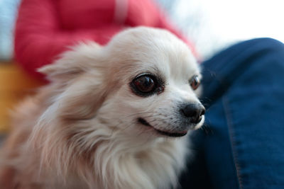
[[[136,28],[121,33],[108,49],[114,70],[131,75],[151,72],[167,78],[185,79],[198,73],[198,66],[189,47],[165,30]],[[117,67],[116,67],[117,65]],[[124,72],[124,73],[123,73]]]

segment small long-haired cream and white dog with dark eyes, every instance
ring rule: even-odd
[[[167,189],[204,122],[201,74],[170,32],[138,27],[85,42],[39,69],[50,84],[23,101],[1,149],[3,189]]]

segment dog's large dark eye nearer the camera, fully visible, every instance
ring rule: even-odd
[[[133,80],[133,86],[141,93],[151,93],[155,90],[155,81],[151,76],[138,76]]]

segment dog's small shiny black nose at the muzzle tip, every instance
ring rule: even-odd
[[[190,118],[190,122],[198,123],[205,113],[205,108],[201,103],[189,103],[182,107],[180,111],[186,118]]]

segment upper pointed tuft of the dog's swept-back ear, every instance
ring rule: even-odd
[[[87,71],[92,64],[99,62],[101,49],[102,47],[95,42],[80,43],[62,53],[53,64],[39,68],[38,72],[45,74],[49,81],[69,81]]]

